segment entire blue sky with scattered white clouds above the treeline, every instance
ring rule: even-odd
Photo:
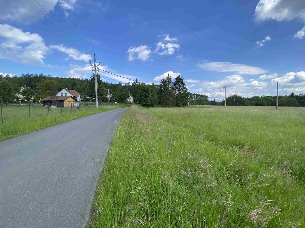
[[[81,52],[35,0],[2,1],[0,74],[88,78],[89,45],[58,1],[37,1]],[[60,2],[102,69],[147,83],[181,74],[189,90],[228,95],[275,95],[276,82],[280,94],[305,93],[303,0]]]

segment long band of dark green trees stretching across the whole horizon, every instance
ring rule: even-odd
[[[163,78],[159,85],[147,85],[139,81],[122,84],[108,83],[101,80],[97,75],[98,97],[100,102],[107,101],[107,89],[112,94],[111,102],[125,103],[129,95],[133,96],[134,102],[146,107],[155,105],[186,106],[190,105],[224,105],[223,101],[209,99],[208,95],[190,93],[187,90],[184,79],[179,75],[174,80],[168,75]],[[63,88],[76,90],[81,94],[82,100],[94,100],[95,87],[93,75],[90,79],[61,78],[43,74],[22,74],[21,76],[0,75],[0,101],[19,102],[16,94],[20,93],[21,86],[27,86],[22,92],[26,100],[38,101],[39,99],[52,96]],[[21,101],[25,102],[25,101]],[[276,96],[254,96],[251,98],[232,95],[227,97],[227,105],[242,106],[275,106]],[[303,106],[305,107],[305,95],[279,95],[279,106]]]

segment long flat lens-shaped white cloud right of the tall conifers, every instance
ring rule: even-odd
[[[260,67],[230,62],[204,62],[199,63],[198,66],[204,70],[212,70],[216,72],[233,72],[235,74],[257,75],[267,72],[267,70]]]

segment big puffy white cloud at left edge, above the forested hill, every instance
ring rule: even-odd
[[[23,32],[8,24],[0,24],[0,58],[14,59],[25,64],[43,64],[48,51],[37,33]]]

